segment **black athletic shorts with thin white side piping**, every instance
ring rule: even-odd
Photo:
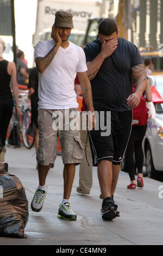
[[[108,133],[108,136],[102,136],[103,125],[100,124],[100,118],[99,120],[97,118],[96,126],[99,125],[99,130],[95,128],[89,132],[93,166],[98,166],[102,160],[108,160],[115,165],[121,164],[130,137],[133,111],[111,111],[111,124],[110,118],[106,118],[106,111],[97,112],[99,117],[100,115],[104,117],[104,126],[110,125],[110,135]]]

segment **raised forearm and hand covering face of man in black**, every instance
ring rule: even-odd
[[[97,75],[97,72],[103,64],[104,59],[111,56],[111,54],[116,50],[117,44],[117,38],[111,39],[109,41],[103,40],[101,52],[96,56],[95,59],[92,60],[92,62],[86,63],[88,69],[87,76],[90,81]]]

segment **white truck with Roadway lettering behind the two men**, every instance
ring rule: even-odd
[[[102,15],[102,1],[96,0],[37,0],[36,28],[33,35],[33,46],[39,40],[49,39],[57,11],[68,11],[73,14],[74,29],[72,34],[84,38],[87,20]],[[81,40],[79,40],[80,42]],[[74,41],[76,43],[76,40]],[[80,44],[80,43],[79,43]]]

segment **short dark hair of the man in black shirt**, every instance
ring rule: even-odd
[[[114,32],[118,33],[117,23],[114,19],[104,19],[99,23],[98,33],[102,35],[112,35]]]

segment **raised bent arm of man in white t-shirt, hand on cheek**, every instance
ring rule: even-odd
[[[58,28],[53,25],[52,27],[52,34],[51,37],[55,41],[55,46],[52,48],[51,51],[48,52],[48,54],[45,57],[37,57],[35,59],[37,70],[40,73],[43,73],[46,68],[51,64],[53,58],[55,57],[55,54],[57,53],[60,45],[61,45],[61,38],[58,34]]]

